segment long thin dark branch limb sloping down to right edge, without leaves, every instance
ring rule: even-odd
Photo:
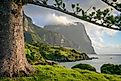
[[[64,11],[64,10],[58,8],[58,7],[53,6],[53,5],[45,5],[45,4],[40,3],[39,1],[33,1],[33,2],[30,2],[29,4],[33,4],[33,5],[37,5],[37,6],[41,6],[41,7],[45,7],[45,8],[49,8],[49,9],[53,9],[53,10],[57,10],[57,11],[60,11],[62,13],[65,13],[67,15],[70,15],[70,16],[73,16],[75,18],[87,21],[89,23],[93,23],[95,25],[98,25],[98,26],[101,26],[101,27],[104,27],[104,28],[121,31],[121,28],[108,27],[108,26],[105,26],[103,24],[99,24],[99,23],[96,23],[94,21],[90,21],[88,19],[85,19],[83,16],[79,16],[79,15],[73,13],[73,12],[69,12],[69,11],[66,11],[66,10]]]

